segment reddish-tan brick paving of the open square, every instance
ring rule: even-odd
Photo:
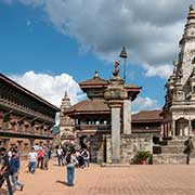
[[[23,161],[16,195],[195,195],[195,166],[131,166],[77,169],[75,186],[65,184],[66,168],[50,162],[50,170],[26,173]]]

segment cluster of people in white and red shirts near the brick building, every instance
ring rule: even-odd
[[[36,168],[48,170],[51,157],[52,148],[47,147],[47,145],[39,146],[37,151],[32,146],[31,151],[28,153],[28,171],[35,173]]]

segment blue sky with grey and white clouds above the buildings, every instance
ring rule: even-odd
[[[60,107],[80,81],[112,77],[125,46],[132,110],[160,108],[192,0],[0,0],[0,73]],[[194,3],[195,6],[195,3]]]

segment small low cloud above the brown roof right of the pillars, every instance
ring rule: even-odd
[[[135,101],[132,103],[132,112],[139,112],[139,110],[147,110],[147,109],[156,109],[158,108],[158,102],[156,100],[153,100],[148,96],[142,98],[138,96]]]

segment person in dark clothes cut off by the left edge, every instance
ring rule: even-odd
[[[5,147],[0,148],[0,155],[1,155],[1,166],[2,166],[0,169],[0,187],[3,185],[5,181],[9,190],[9,195],[13,195],[13,188],[9,178],[12,172],[11,172],[9,156]]]

